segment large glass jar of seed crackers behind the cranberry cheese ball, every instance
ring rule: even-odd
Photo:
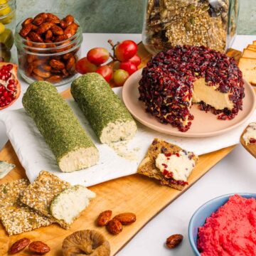
[[[148,0],[142,41],[150,53],[171,46],[207,46],[225,52],[233,43],[239,0]]]

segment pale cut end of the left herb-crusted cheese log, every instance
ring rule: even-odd
[[[99,152],[94,146],[90,146],[69,152],[60,159],[58,165],[61,171],[72,172],[94,166],[98,160]]]

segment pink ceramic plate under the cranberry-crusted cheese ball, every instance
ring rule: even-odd
[[[252,86],[245,82],[245,98],[243,99],[243,110],[232,120],[219,120],[210,112],[206,113],[198,110],[197,105],[193,105],[191,112],[195,119],[192,121],[191,129],[187,132],[179,132],[171,124],[161,124],[151,114],[146,113],[144,103],[139,101],[139,80],[142,78],[142,70],[132,74],[124,83],[122,97],[124,104],[135,119],[157,132],[171,134],[179,137],[210,137],[230,131],[245,122],[253,113],[256,107],[256,96]]]

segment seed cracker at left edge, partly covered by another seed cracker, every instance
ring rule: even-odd
[[[0,185],[0,219],[9,235],[31,231],[50,225],[49,218],[23,205],[18,197],[29,185],[27,179],[19,179]]]

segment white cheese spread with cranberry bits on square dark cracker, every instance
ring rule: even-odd
[[[162,173],[164,170],[172,172],[172,178],[176,181],[187,181],[196,163],[195,160],[190,157],[191,153],[181,150],[178,154],[179,156],[176,156],[176,154],[171,156],[159,154],[156,157],[156,167]]]

